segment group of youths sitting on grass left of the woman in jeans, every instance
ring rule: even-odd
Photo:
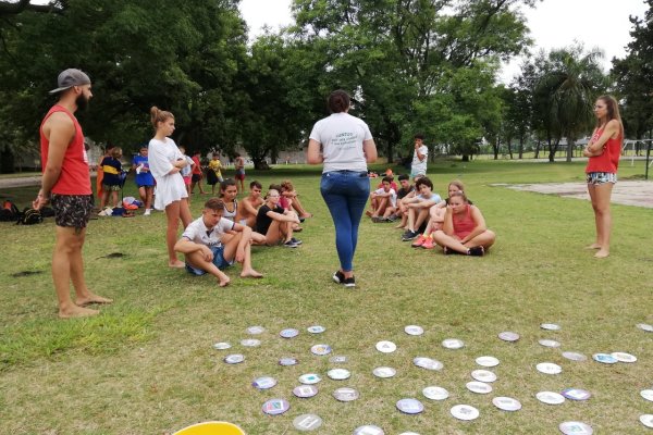
[[[230,283],[222,272],[234,262],[242,263],[242,277],[261,277],[251,266],[251,245],[297,248],[294,237],[305,219],[311,217],[289,181],[270,186],[262,197],[262,186],[254,181],[249,195],[237,200],[236,182],[220,183],[220,197],[206,201],[201,216],[182,234],[174,250],[186,258],[186,270],[194,275],[211,274],[221,287]]]

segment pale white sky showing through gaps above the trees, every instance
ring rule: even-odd
[[[534,40],[531,52],[568,47],[575,41],[586,50],[600,48],[605,58],[603,69],[607,72],[612,59],[624,58],[630,41],[629,15],[644,16],[643,0],[544,0],[535,9],[522,8]],[[273,30],[292,24],[291,0],[242,0],[241,13],[249,27],[250,38],[262,33],[268,25]],[[521,60],[515,59],[502,69],[500,79],[509,83],[519,74]]]

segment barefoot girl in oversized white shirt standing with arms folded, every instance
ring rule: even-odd
[[[188,165],[188,162],[174,140],[168,137],[174,132],[174,115],[159,110],[156,105],[150,109],[150,115],[156,132],[148,148],[150,172],[157,181],[155,209],[165,210],[168,217],[168,231],[165,232],[168,265],[184,268],[184,262],[176,257],[174,245],[180,219],[184,228],[193,220],[188,208],[188,192],[181,174],[182,169]]]

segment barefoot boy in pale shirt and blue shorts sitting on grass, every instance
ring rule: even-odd
[[[220,287],[230,283],[222,272],[235,261],[242,263],[242,277],[260,278],[263,275],[251,268],[251,228],[222,217],[224,202],[211,198],[205,203],[201,217],[193,221],[174,250],[186,257],[186,271],[194,275],[210,273],[219,281]],[[235,232],[226,244],[221,241],[226,232]]]

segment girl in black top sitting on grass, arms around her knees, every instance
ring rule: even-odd
[[[279,206],[279,190],[270,189],[266,202],[258,210],[256,216],[256,232],[266,236],[266,245],[283,244],[286,248],[296,248],[301,240],[293,237],[293,224],[299,223],[299,217],[293,211],[284,210]]]

